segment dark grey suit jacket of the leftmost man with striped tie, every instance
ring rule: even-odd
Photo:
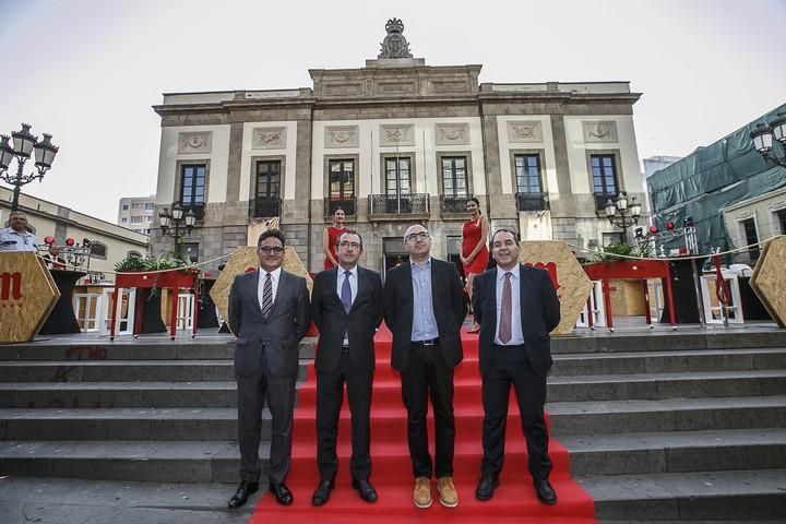
[[[235,374],[287,377],[298,371],[298,343],[311,322],[306,278],[282,270],[273,310],[262,315],[257,295],[260,272],[237,275],[229,290],[229,329],[237,336]]]

